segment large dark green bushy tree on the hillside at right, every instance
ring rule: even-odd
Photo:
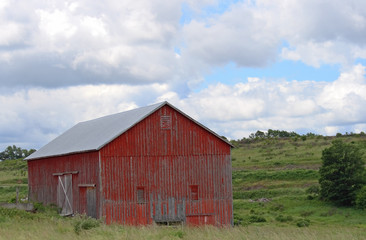
[[[341,140],[323,150],[319,169],[320,197],[338,205],[354,205],[357,191],[365,184],[360,148]]]

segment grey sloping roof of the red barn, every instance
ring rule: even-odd
[[[141,107],[126,112],[80,122],[38,151],[25,158],[25,160],[99,150],[164,105],[169,105],[222,139],[215,132],[198,123],[168,102],[162,102],[147,107]],[[222,140],[231,145],[228,141],[224,139]]]

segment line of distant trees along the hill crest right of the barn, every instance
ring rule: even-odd
[[[366,134],[364,132],[361,132],[361,133],[346,132],[345,134],[341,134],[341,133],[336,134],[336,137],[347,137],[347,136],[366,136]],[[288,131],[284,131],[284,130],[268,129],[267,132],[258,130],[255,133],[251,133],[248,138],[243,137],[242,139],[231,140],[231,142],[234,144],[235,143],[250,143],[250,142],[255,142],[258,140],[274,139],[274,138],[294,138],[296,140],[301,139],[301,140],[305,141],[307,138],[313,138],[313,137],[324,137],[324,136],[315,134],[312,132],[301,135],[301,134],[298,134],[293,131],[288,132]]]

